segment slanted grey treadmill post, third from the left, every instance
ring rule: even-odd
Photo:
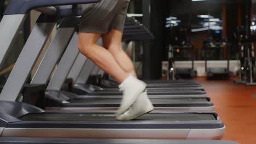
[[[61,21],[57,33],[51,42],[50,47],[45,52],[43,60],[40,63],[37,72],[31,81],[31,84],[46,85],[51,76],[51,73],[53,73],[56,64],[60,61],[63,51],[65,51],[69,40],[72,38],[75,27],[78,25],[77,23],[78,18],[74,17],[66,17]]]

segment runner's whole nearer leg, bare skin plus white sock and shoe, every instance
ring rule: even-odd
[[[117,111],[117,115],[121,115],[135,103],[146,88],[146,83],[129,76],[130,74],[120,67],[108,50],[96,44],[100,35],[79,33],[79,51],[121,83],[120,88],[123,90],[123,100]]]

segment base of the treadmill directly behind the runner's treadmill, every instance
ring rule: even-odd
[[[46,110],[118,110],[121,97],[81,97],[69,92],[46,90]],[[213,111],[210,98],[151,97],[155,110]]]

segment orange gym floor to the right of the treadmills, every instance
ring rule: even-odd
[[[226,125],[223,140],[256,144],[256,86],[236,85],[232,81],[197,79],[216,106]]]

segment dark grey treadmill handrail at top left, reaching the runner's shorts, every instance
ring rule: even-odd
[[[101,0],[12,0],[5,10],[4,15],[15,15],[15,14],[27,14],[28,11],[42,7],[52,7],[59,5],[72,5],[72,4],[86,4],[86,3],[97,3]],[[53,8],[44,8],[44,12],[53,14]],[[50,11],[49,11],[50,10]]]

